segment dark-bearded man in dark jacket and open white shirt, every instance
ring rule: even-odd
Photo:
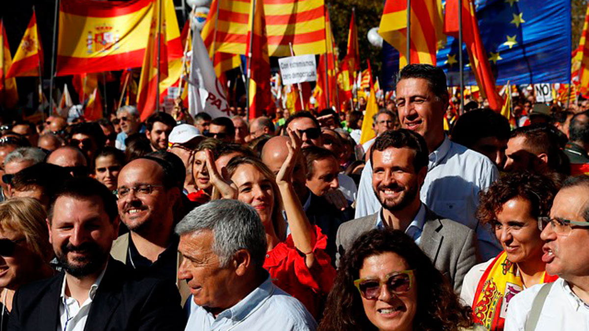
[[[139,278],[109,258],[119,221],[108,188],[91,178],[66,181],[47,225],[64,272],[15,293],[9,330],[183,330],[172,283]]]

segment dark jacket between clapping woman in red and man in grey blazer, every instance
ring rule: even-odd
[[[335,206],[328,203],[323,197],[316,196],[309,190],[311,201],[309,208],[305,211],[307,219],[311,224],[315,224],[321,229],[321,232],[327,236],[327,247],[325,252],[331,257],[332,264],[335,266],[336,245],[335,237],[337,229],[344,222],[354,218],[354,209],[348,207],[345,210],[338,210]]]

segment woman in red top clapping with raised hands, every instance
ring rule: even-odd
[[[300,157],[300,135],[289,130],[289,154],[274,176],[259,158],[236,157],[227,164],[226,183],[214,167],[213,155],[207,150],[207,168],[211,182],[223,198],[234,198],[250,204],[258,212],[266,229],[267,254],[264,268],[272,282],[302,302],[307,310],[320,316],[321,302],[329,293],[335,269],[325,247],[327,237],[307,219],[294,193],[291,178]],[[211,167],[212,166],[212,167]],[[286,236],[286,213],[290,235]]]

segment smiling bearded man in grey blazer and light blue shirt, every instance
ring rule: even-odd
[[[411,130],[386,131],[370,149],[372,188],[380,203],[376,214],[343,223],[337,229],[337,259],[360,234],[392,227],[405,231],[460,292],[462,280],[477,263],[475,232],[443,219],[419,200],[428,173],[428,145]]]

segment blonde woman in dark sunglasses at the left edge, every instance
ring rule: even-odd
[[[32,198],[13,198],[0,203],[0,330],[6,330],[14,292],[34,280],[51,277],[45,211]]]

